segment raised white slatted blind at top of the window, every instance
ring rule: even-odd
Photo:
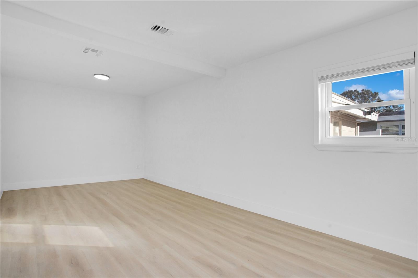
[[[339,73],[333,73],[329,75],[319,76],[319,83],[341,81],[346,79],[357,78],[361,76],[368,76],[387,71],[400,71],[406,68],[412,68],[415,66],[415,52],[410,54],[411,58],[395,61],[391,63],[385,63],[377,66],[370,66],[367,68],[359,68],[352,71],[344,71]]]

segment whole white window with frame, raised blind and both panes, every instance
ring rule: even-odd
[[[417,151],[416,46],[409,49],[314,71],[315,147]]]

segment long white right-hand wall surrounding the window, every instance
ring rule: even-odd
[[[416,7],[148,96],[145,178],[417,260],[417,154],[312,145],[314,68],[414,44]]]

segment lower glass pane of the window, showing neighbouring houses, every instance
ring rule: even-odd
[[[347,109],[329,112],[330,136],[405,135],[405,107]],[[338,129],[336,129],[338,126]]]

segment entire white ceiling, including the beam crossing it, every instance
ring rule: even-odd
[[[1,5],[2,74],[147,95],[204,75],[222,77],[224,68],[396,13],[417,1],[2,1]],[[148,28],[154,23],[176,33],[169,37],[153,33]],[[85,46],[105,53],[87,56],[81,52]],[[93,73],[111,79],[98,81]]]

